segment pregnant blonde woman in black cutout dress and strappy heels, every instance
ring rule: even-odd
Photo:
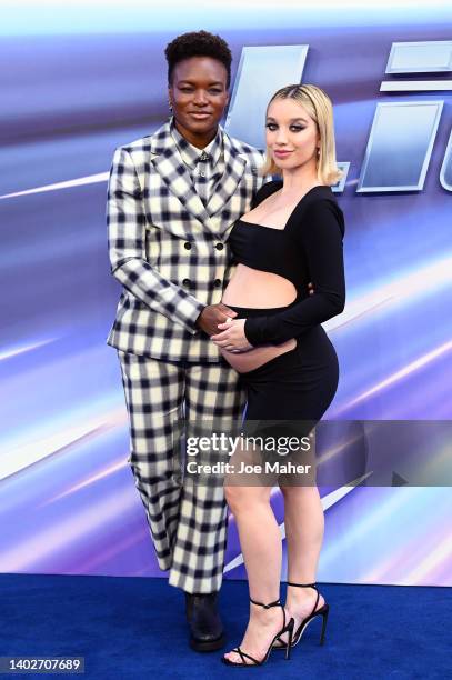
[[[272,426],[268,434],[291,434],[289,426],[305,423],[295,428],[300,437],[322,418],[339,379],[337,354],[321,326],[343,310],[345,300],[344,220],[331,191],[340,178],[331,101],[315,86],[288,86],[270,100],[265,124],[268,160],[262,172],[278,172],[282,181],[264,183],[250,212],[232,228],[229,242],[238,266],[222,301],[238,317],[220,324],[212,341],[241,373],[248,392],[245,420],[287,426]],[[259,470],[255,456],[250,458],[244,449],[234,458],[235,472],[243,461]],[[261,469],[267,470],[264,462]],[[270,506],[274,482],[269,479],[227,479],[251,600],[243,641],[222,658],[228,664],[262,663],[277,647],[289,657],[305,626],[319,616],[323,642],[329,606],[315,584],[324,526],[319,491],[312,477],[308,483],[303,474],[299,481],[289,473],[278,478],[288,548],[284,608],[279,602],[281,534]]]

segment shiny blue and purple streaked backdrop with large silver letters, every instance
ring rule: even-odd
[[[327,326],[341,381],[319,441],[335,461],[319,580],[450,586],[452,10],[189,4],[2,9],[0,570],[161,573],[106,346],[106,182],[114,148],[168,114],[164,46],[203,28],[233,52],[231,133],[262,142],[279,80],[334,103],[348,302]],[[233,519],[227,573],[244,576]]]

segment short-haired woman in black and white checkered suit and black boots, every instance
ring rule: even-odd
[[[235,312],[221,302],[229,231],[262,184],[263,154],[224,132],[231,52],[184,33],[165,50],[170,120],[117,149],[108,192],[111,271],[122,291],[108,342],[118,350],[130,456],[159,567],[185,593],[190,644],[223,646],[217,608],[228,514],[223,484],[183,478],[188,423],[240,420],[244,393],[210,336]]]

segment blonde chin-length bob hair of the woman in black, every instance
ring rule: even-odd
[[[270,99],[265,116],[275,99],[293,99],[304,107],[320,136],[320,148],[317,160],[317,174],[321,184],[332,186],[342,177],[335,162],[334,122],[331,99],[321,88],[313,84],[290,84],[278,90]],[[267,147],[267,157],[260,174],[279,174],[280,169]]]

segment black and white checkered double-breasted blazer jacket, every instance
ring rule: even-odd
[[[107,221],[112,274],[122,283],[108,343],[164,361],[215,362],[195,321],[231,276],[234,221],[262,184],[263,156],[224,131],[224,176],[204,208],[171,136],[172,122],[117,149]]]

